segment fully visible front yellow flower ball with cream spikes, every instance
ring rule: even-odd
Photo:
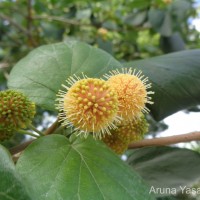
[[[101,138],[117,119],[118,98],[116,92],[104,80],[96,78],[80,79],[70,77],[64,86],[67,91],[59,91],[57,109],[59,118],[65,126],[73,126],[77,135],[87,136],[93,133]]]

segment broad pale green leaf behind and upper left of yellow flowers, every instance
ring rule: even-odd
[[[69,76],[83,72],[100,77],[118,66],[121,64],[108,53],[81,42],[45,45],[14,66],[8,87],[24,92],[39,106],[55,110],[56,94]]]

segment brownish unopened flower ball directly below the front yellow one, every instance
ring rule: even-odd
[[[102,141],[116,154],[123,154],[128,148],[128,142],[122,140],[118,131],[111,130],[111,135],[105,135]]]

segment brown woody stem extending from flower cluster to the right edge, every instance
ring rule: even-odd
[[[131,143],[129,149],[136,149],[148,146],[164,146],[177,144],[180,142],[191,142],[200,140],[200,132],[191,132],[181,135],[173,135],[169,137],[161,137],[155,139],[145,139],[138,142]]]

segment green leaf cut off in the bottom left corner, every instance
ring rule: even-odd
[[[0,199],[31,200],[8,151],[0,145]]]

